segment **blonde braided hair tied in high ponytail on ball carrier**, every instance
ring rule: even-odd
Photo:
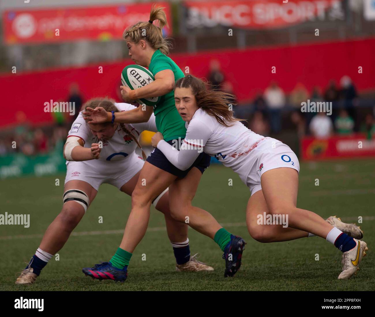
[[[150,43],[152,48],[160,49],[160,52],[168,55],[171,42],[163,38],[163,27],[166,25],[169,28],[163,9],[163,7],[156,7],[155,4],[151,7],[150,21],[158,20],[158,26],[150,22],[138,22],[125,29],[123,38],[133,43],[139,43],[140,40],[144,39]],[[142,35],[143,30],[145,35]]]

